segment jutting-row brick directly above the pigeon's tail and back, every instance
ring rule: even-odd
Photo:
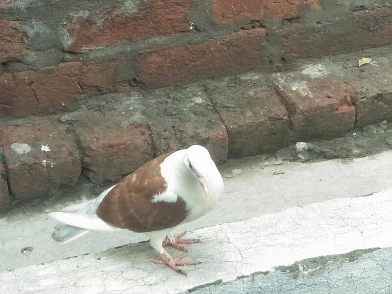
[[[117,109],[104,115],[86,113],[73,123],[82,147],[83,172],[92,182],[118,181],[153,158],[149,127],[129,122],[130,117]]]

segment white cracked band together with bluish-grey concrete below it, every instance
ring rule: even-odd
[[[392,189],[196,229],[188,277],[139,243],[2,272],[1,292],[391,293],[391,230]]]

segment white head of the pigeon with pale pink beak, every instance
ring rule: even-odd
[[[199,145],[193,145],[187,149],[185,164],[192,175],[199,180],[201,187],[207,196],[207,178],[214,162],[208,150]]]

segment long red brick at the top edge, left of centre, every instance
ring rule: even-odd
[[[84,17],[69,18],[67,31],[73,44],[68,50],[81,52],[84,47],[190,31],[186,15],[191,4],[192,0],[142,1],[136,12],[127,14],[117,8],[104,15],[100,23]]]

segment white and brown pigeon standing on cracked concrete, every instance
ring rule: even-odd
[[[200,242],[180,239],[184,233],[173,236],[173,231],[209,212],[222,193],[223,180],[209,152],[193,145],[154,158],[96,199],[50,213],[62,222],[52,237],[65,243],[90,230],[144,233],[162,257],[154,262],[185,274],[178,266],[199,262],[182,261],[185,254],[172,258],[163,246],[187,251],[182,244]]]

